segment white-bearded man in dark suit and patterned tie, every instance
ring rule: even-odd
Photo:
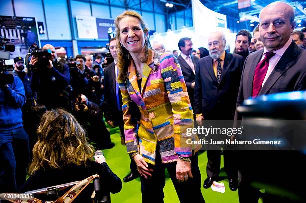
[[[243,67],[243,57],[227,53],[225,35],[213,32],[208,37],[209,56],[199,59],[195,76],[194,107],[198,125],[203,120],[233,120]],[[217,135],[219,136],[219,135]],[[214,137],[215,138],[215,137]],[[212,138],[212,139],[214,139]],[[220,150],[207,151],[207,179],[204,188],[217,180]],[[238,168],[231,152],[224,150],[224,165],[232,191],[238,188]]]

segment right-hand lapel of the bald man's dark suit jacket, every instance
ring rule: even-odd
[[[271,87],[275,84],[279,77],[284,72],[286,72],[296,61],[297,54],[298,47],[297,45],[295,45],[294,42],[292,42],[276,64],[274,70],[271,72],[266,82],[264,83],[262,89],[259,92],[259,95],[266,94],[271,89]]]

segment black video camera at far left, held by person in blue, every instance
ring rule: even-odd
[[[10,59],[10,51],[15,51],[15,46],[9,43],[9,39],[0,36],[0,86],[14,82],[12,74],[6,74],[6,71],[12,71],[13,65],[5,65],[5,60]]]

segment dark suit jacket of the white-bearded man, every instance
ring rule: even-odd
[[[212,58],[201,58],[195,77],[195,113],[203,113],[205,120],[233,120],[242,68],[243,57],[226,52],[221,81],[218,84],[213,72]]]

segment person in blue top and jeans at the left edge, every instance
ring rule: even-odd
[[[22,81],[0,70],[0,192],[15,192],[26,180],[29,140],[22,125],[24,103]]]

